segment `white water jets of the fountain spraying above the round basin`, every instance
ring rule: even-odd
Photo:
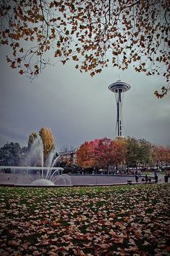
[[[19,170],[24,174],[24,170],[28,173],[30,170],[37,171],[37,175],[29,174],[27,175],[27,185],[31,186],[55,186],[55,185],[71,185],[71,177],[69,175],[63,174],[63,168],[55,167],[55,164],[60,159],[60,156],[54,157],[54,152],[51,151],[48,155],[48,158],[44,162],[43,157],[43,144],[42,138],[37,136],[32,146],[30,147],[29,154],[27,155],[27,165],[22,167],[6,167],[1,166],[0,169],[11,169],[15,174],[15,185],[19,184],[19,179],[16,176]],[[39,165],[37,167],[37,164]],[[21,175],[20,175],[21,176]],[[18,177],[21,180],[21,177]],[[24,184],[25,184],[25,175],[24,175]],[[22,182],[22,180],[21,180]],[[24,185],[19,184],[19,185]]]

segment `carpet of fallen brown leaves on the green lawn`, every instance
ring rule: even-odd
[[[170,185],[0,187],[0,255],[170,255]]]

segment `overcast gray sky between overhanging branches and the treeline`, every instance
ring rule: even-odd
[[[27,146],[32,131],[49,127],[56,151],[76,148],[94,138],[115,138],[115,95],[108,86],[120,79],[130,84],[123,102],[125,136],[146,138],[153,144],[170,145],[170,93],[162,100],[153,95],[166,85],[158,76],[120,71],[111,65],[91,78],[74,69],[75,63],[49,66],[30,83],[6,63],[0,50],[0,146],[7,141]]]

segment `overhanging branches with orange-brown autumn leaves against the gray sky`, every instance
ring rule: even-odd
[[[6,0],[0,10],[0,45],[11,48],[6,61],[19,74],[34,79],[56,62],[51,50],[91,76],[109,62],[122,70],[133,63],[169,81],[169,0]]]

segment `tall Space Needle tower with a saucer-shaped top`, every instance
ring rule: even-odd
[[[123,137],[122,102],[124,98],[124,92],[127,92],[130,89],[130,85],[124,81],[117,80],[115,83],[110,84],[108,88],[110,91],[115,92],[117,104],[116,137]]]

